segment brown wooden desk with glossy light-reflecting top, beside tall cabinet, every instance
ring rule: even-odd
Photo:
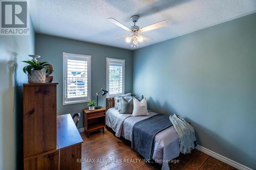
[[[24,169],[58,169],[60,152],[60,170],[81,169],[81,143],[83,142],[70,114],[57,116],[56,149],[24,160]],[[60,149],[60,151],[58,150]]]

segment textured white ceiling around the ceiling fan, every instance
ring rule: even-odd
[[[160,20],[168,26],[144,33],[152,37],[139,47],[181,36],[256,12],[255,0],[30,0],[30,13],[37,33],[99,44],[131,48],[127,32],[108,21],[113,17],[125,26],[133,25],[132,15],[140,15],[142,28]]]

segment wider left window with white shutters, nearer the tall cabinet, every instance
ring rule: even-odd
[[[90,101],[91,56],[63,53],[63,105]]]

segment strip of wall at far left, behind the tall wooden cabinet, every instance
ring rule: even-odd
[[[28,79],[20,61],[34,54],[34,34],[30,22],[30,36],[0,35],[0,169],[23,166],[22,85]]]

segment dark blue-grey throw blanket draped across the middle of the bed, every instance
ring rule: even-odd
[[[133,126],[132,148],[145,159],[152,159],[153,143],[157,133],[172,126],[168,115],[157,114]]]

